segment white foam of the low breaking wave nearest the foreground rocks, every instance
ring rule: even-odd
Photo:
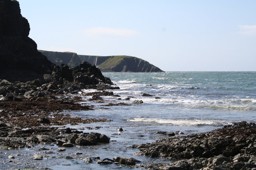
[[[200,120],[200,119],[152,119],[146,117],[136,117],[132,119],[127,119],[127,121],[134,122],[148,122],[148,123],[162,123],[177,126],[202,126],[202,125],[226,125],[231,124],[231,122],[222,120]]]

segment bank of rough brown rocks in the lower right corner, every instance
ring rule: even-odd
[[[152,158],[178,160],[146,167],[149,169],[252,169],[256,168],[255,139],[256,124],[239,122],[206,133],[170,137],[133,147]]]

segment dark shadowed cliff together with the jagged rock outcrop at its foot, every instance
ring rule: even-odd
[[[60,66],[51,63],[28,37],[30,26],[20,14],[18,1],[0,0],[0,9],[0,79],[7,82],[30,81],[27,82],[29,85],[41,86],[41,90],[49,89],[50,92],[59,88],[77,90],[86,85],[113,84],[96,66],[80,63],[76,54],[72,54],[72,66],[77,66],[72,69],[60,61]],[[6,89],[1,90],[1,94],[5,92]],[[27,93],[32,94],[33,91]]]

